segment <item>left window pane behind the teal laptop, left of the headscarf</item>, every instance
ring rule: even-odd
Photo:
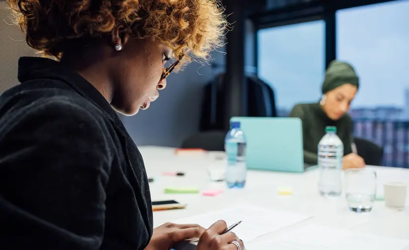
[[[260,30],[259,77],[273,89],[279,116],[321,97],[325,70],[323,21]]]

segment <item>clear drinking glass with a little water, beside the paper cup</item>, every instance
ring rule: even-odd
[[[367,169],[346,170],[345,192],[351,211],[370,212],[377,192],[377,173]]]

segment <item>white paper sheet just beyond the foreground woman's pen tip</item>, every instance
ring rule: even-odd
[[[220,219],[225,220],[228,226],[242,220],[241,224],[232,231],[244,242],[249,242],[257,237],[309,218],[312,217],[254,206],[239,206],[179,219],[174,222],[182,224],[196,223],[208,228]]]

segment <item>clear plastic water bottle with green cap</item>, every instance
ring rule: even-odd
[[[325,127],[325,133],[318,144],[318,167],[320,169],[318,190],[323,197],[340,196],[344,145],[337,136],[336,127]]]

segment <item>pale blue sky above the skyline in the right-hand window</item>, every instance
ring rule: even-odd
[[[404,106],[408,13],[408,0],[337,11],[337,58],[351,62],[361,79],[353,107]]]

